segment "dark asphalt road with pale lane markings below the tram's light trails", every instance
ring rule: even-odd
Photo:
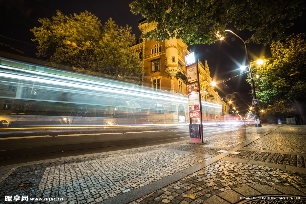
[[[226,131],[224,126],[203,128],[203,137]],[[55,159],[83,154],[160,145],[187,140],[188,126],[168,128],[113,129],[112,131],[68,133],[41,130],[38,133],[16,132],[0,137],[0,166]],[[18,134],[17,134],[18,133]]]

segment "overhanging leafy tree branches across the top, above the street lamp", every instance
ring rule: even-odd
[[[247,42],[268,43],[283,39],[285,28],[301,16],[303,0],[136,0],[130,4],[134,14],[141,13],[157,27],[144,35],[158,41],[177,36],[184,42],[208,43],[226,35],[224,29],[234,22],[238,30],[248,29],[253,35]]]

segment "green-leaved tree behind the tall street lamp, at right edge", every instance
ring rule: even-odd
[[[306,39],[304,33],[290,35],[285,42],[271,43],[272,57],[253,69],[261,102],[291,102],[306,124]]]

